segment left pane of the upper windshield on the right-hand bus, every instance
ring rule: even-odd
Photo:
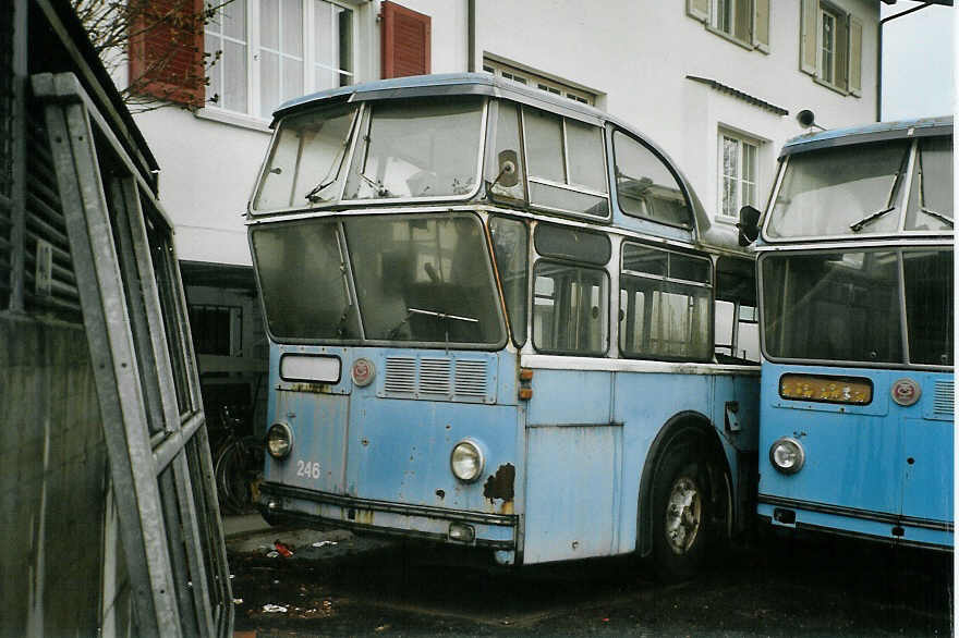
[[[766,233],[772,238],[889,233],[911,140],[789,156]]]

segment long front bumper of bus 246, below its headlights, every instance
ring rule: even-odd
[[[518,517],[512,514],[356,499],[270,482],[262,483],[259,492],[267,520],[486,548],[497,552],[499,562],[507,559],[500,552],[517,549]]]

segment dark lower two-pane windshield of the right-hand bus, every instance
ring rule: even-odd
[[[948,248],[768,255],[761,269],[770,358],[952,364]]]

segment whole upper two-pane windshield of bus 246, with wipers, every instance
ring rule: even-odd
[[[483,98],[368,102],[357,124],[359,111],[340,105],[284,118],[253,210],[463,197],[478,185]]]

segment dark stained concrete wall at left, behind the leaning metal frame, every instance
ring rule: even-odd
[[[0,314],[0,636],[123,635],[129,588],[82,326]]]

